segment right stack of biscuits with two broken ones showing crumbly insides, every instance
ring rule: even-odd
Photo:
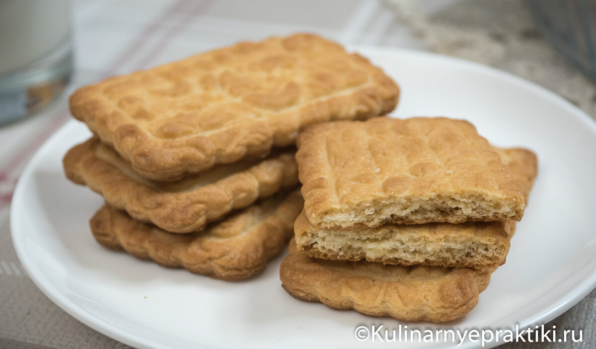
[[[504,264],[536,156],[446,118],[337,121],[299,135],[304,209],[281,265],[303,301],[444,322]]]

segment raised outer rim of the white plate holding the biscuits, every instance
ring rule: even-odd
[[[543,97],[546,97],[557,104],[560,104],[561,107],[569,110],[570,113],[573,113],[579,120],[582,121],[585,126],[592,129],[592,131],[596,134],[596,120],[592,119],[586,112],[579,109],[579,107],[573,105],[565,98],[561,97],[561,95],[556,94],[555,92],[542,87],[534,82],[528,81],[520,76],[514,75],[513,73],[505,72],[504,70],[496,69],[495,67],[486,66],[484,64],[480,64],[474,61],[464,60],[462,58],[451,57],[448,55],[437,54],[434,52],[427,52],[427,51],[420,51],[420,50],[409,50],[403,48],[390,48],[390,47],[376,47],[376,46],[368,46],[368,45],[357,45],[357,46],[350,46],[349,51],[355,51],[358,53],[362,53],[365,57],[374,56],[374,55],[405,55],[411,57],[420,57],[427,60],[439,60],[439,61],[446,61],[449,64],[455,64],[458,67],[462,67],[464,69],[471,69],[475,72],[479,72],[485,75],[491,76],[491,78],[498,78],[503,79],[505,81],[511,82],[513,84],[522,85],[522,87],[526,89],[530,89],[533,92],[541,94]],[[374,61],[374,57],[371,57]],[[383,67],[381,67],[383,69]],[[44,144],[36,150],[35,155],[31,157],[27,165],[25,166],[23,172],[21,173],[17,185],[15,186],[14,193],[13,193],[13,201],[11,203],[11,212],[10,212],[10,230],[11,230],[11,238],[13,240],[13,246],[15,251],[17,252],[18,260],[26,270],[27,275],[30,279],[33,280],[33,283],[42,291],[42,293],[51,299],[54,304],[58,305],[62,310],[64,310],[67,314],[72,317],[75,317],[79,322],[82,322],[84,325],[89,326],[89,328],[94,329],[104,335],[113,338],[117,341],[120,341],[124,344],[132,345],[134,347],[141,347],[141,348],[169,348],[168,345],[151,341],[149,339],[145,339],[142,336],[136,335],[130,331],[125,331],[124,329],[118,328],[115,325],[112,325],[107,320],[101,319],[101,317],[97,316],[96,314],[92,313],[91,311],[85,310],[84,308],[77,305],[74,301],[69,299],[66,295],[63,294],[60,290],[58,290],[46,277],[44,274],[36,267],[35,263],[32,259],[29,258],[29,255],[26,252],[26,243],[21,236],[23,234],[18,233],[21,231],[20,223],[17,214],[17,210],[13,209],[14,207],[22,206],[20,204],[21,200],[24,200],[23,192],[23,180],[22,178],[29,178],[31,177],[31,172],[33,171],[33,163],[38,162],[38,158],[41,156],[43,150],[49,146],[49,144],[54,143],[54,139],[58,137],[65,129],[73,127],[73,124],[77,123],[74,119],[70,119],[64,125],[62,125],[51,137],[48,138],[44,142]],[[24,237],[24,236],[23,236]],[[571,274],[573,275],[573,274]],[[563,314],[565,311],[569,310],[573,305],[576,305],[579,301],[586,297],[590,292],[592,292],[596,288],[596,269],[589,274],[582,282],[578,283],[570,292],[567,292],[562,297],[556,299],[556,301],[551,302],[552,306],[544,308],[542,311],[534,314],[533,316],[528,316],[526,319],[520,321],[520,328],[528,328],[530,326],[534,326],[538,323],[546,323],[550,320],[554,319],[560,314]],[[523,325],[523,326],[522,326]],[[497,345],[501,345],[503,342],[491,342],[489,345],[485,345],[485,348],[492,348],[496,347]],[[461,345],[461,348],[476,348],[479,347],[479,343],[473,343],[470,341],[464,342]]]

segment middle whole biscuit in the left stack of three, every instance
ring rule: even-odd
[[[264,160],[219,165],[175,182],[141,177],[97,138],[73,147],[63,162],[73,182],[86,184],[103,195],[109,205],[127,211],[135,220],[173,233],[201,230],[233,209],[298,183],[293,149]]]

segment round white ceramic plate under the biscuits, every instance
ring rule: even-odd
[[[401,85],[395,116],[468,119],[493,144],[527,147],[539,157],[507,264],[476,308],[451,323],[409,325],[527,327],[553,319],[594,289],[596,123],[563,98],[498,70],[423,52],[359,51]],[[64,153],[88,136],[72,121],[39,149],[18,183],[11,214],[14,246],[33,281],[86,325],[147,348],[452,346],[356,341],[356,326],[398,322],[297,301],[281,288],[281,257],[253,280],[228,283],[98,246],[88,220],[102,200],[69,183],[61,166]]]

